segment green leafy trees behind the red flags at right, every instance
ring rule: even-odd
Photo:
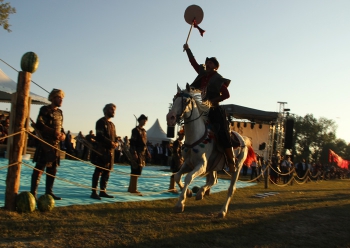
[[[333,120],[321,117],[316,119],[312,114],[296,116],[293,135],[294,161],[328,163],[328,151],[333,150],[343,159],[350,160],[350,144],[337,138],[337,125]]]

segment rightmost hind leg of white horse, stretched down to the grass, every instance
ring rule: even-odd
[[[227,214],[228,206],[231,202],[233,194],[236,191],[236,182],[238,181],[239,173],[241,172],[243,163],[247,157],[247,153],[248,153],[248,149],[245,147],[242,149],[239,156],[237,156],[237,158],[238,158],[237,169],[231,174],[231,183],[230,183],[230,186],[228,188],[226,202],[218,214],[218,217],[220,217],[220,218],[224,218]]]

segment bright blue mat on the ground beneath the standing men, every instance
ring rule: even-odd
[[[0,158],[0,206],[5,205],[5,188],[8,160]],[[21,167],[21,182],[19,192],[30,191],[30,181],[35,164],[31,161],[24,160]],[[135,196],[127,192],[129,186],[130,166],[115,165],[111,173],[107,187],[108,194],[114,195],[115,198],[102,198],[101,201],[90,198],[91,180],[94,167],[91,164],[74,160],[62,160],[58,168],[57,178],[54,184],[54,193],[63,199],[56,201],[56,206],[87,205],[95,203],[108,202],[129,202],[129,201],[153,201],[160,199],[177,198],[177,194],[167,192],[169,188],[170,171],[166,166],[146,166],[139,178],[138,190],[143,196]],[[45,193],[45,177],[41,178],[38,188],[38,196]],[[184,179],[184,177],[183,177]],[[226,191],[229,187],[229,180],[218,180],[218,183],[211,189],[211,192]],[[190,188],[193,186],[202,186],[205,184],[205,178],[195,179]],[[238,182],[237,188],[243,188],[255,185],[255,183]],[[179,188],[178,188],[179,190]]]

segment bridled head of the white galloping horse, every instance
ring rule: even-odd
[[[186,85],[186,90],[181,90],[177,86],[177,94],[174,96],[173,105],[166,116],[168,126],[175,126],[176,123],[186,118],[186,115],[190,116],[192,114],[195,103],[190,92],[189,84]]]

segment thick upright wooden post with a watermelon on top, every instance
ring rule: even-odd
[[[11,119],[13,120],[13,132],[17,133],[23,131],[26,125],[26,119],[28,117],[28,100],[29,100],[29,88],[31,82],[31,73],[20,71],[18,73],[17,83],[17,99],[16,99],[16,114],[11,113]],[[5,209],[10,211],[16,210],[16,196],[18,194],[21,177],[21,164],[22,154],[25,142],[25,133],[22,132],[12,137],[12,145],[7,151],[9,153],[9,165],[12,165],[7,170],[6,178],[6,192],[5,192]]]

